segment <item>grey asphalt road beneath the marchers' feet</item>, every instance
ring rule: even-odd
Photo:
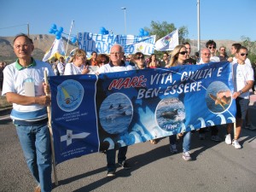
[[[36,187],[20,148],[15,126],[0,113],[0,191],[33,191]],[[224,139],[225,131],[219,136]],[[116,177],[106,177],[105,154],[85,155],[56,166],[59,185],[54,192],[68,191],[256,191],[256,131],[242,130],[241,149],[223,142],[204,141],[192,135],[191,161],[169,151],[168,139],[154,145],[139,143],[129,147],[131,170],[118,169]],[[54,182],[54,180],[53,180]]]

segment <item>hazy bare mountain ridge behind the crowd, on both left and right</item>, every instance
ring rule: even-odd
[[[13,51],[13,40],[15,37],[0,37],[0,61],[6,61],[8,63],[15,61],[16,56]],[[35,49],[33,51],[33,57],[38,60],[42,60],[44,57],[44,54],[47,50],[50,49],[51,45],[53,44],[55,40],[55,36],[53,35],[30,35],[30,38],[32,38],[33,43],[35,45]],[[67,46],[67,38],[63,37],[64,46],[66,49]],[[232,40],[215,40],[217,44],[217,48],[224,45],[227,50],[231,48],[232,44],[235,44],[236,41]],[[204,48],[207,43],[207,40],[201,40],[201,48]],[[197,40],[192,39],[190,40],[191,48],[192,48],[192,54],[195,54],[195,51],[197,50]],[[68,45],[67,53],[69,53],[72,49],[75,49],[77,46],[73,45],[71,42]],[[229,54],[229,52],[228,52]]]

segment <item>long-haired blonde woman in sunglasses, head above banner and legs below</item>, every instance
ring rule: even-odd
[[[177,45],[172,51],[172,57],[169,65],[166,67],[175,67],[182,66],[187,59],[188,51],[186,51],[186,47],[184,45]],[[183,160],[191,160],[189,149],[191,143],[191,131],[185,133],[179,133],[179,137],[183,137]],[[172,135],[169,137],[170,140],[170,151],[172,154],[177,153],[176,148],[176,135]]]

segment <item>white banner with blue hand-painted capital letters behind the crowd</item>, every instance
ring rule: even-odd
[[[79,32],[79,49],[86,52],[109,54],[113,44],[120,44],[125,49],[125,55],[142,52],[144,55],[154,53],[155,35],[140,37],[134,35],[102,35],[90,32]]]

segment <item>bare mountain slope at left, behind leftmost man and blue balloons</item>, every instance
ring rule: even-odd
[[[14,62],[16,60],[16,56],[13,50],[13,41],[15,37],[0,37],[0,61],[6,61],[7,63]],[[55,36],[52,35],[30,35],[32,41],[35,45],[35,49],[32,53],[32,56],[35,59],[42,60],[44,54],[47,50],[50,49],[51,45],[55,40]],[[67,46],[67,38],[62,37],[64,42],[64,48],[66,50]],[[67,53],[69,53],[72,49],[77,48],[71,42],[68,44]]]

